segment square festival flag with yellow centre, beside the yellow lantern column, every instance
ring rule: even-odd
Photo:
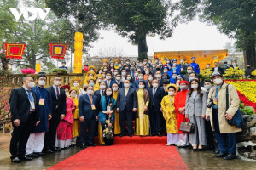
[[[65,59],[66,51],[66,43],[49,43],[49,54],[53,59]]]

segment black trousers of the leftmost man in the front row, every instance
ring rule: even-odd
[[[26,143],[32,132],[35,124],[32,122],[20,122],[20,126],[16,127],[13,124],[14,131],[10,140],[9,152],[11,153],[11,159],[15,157],[22,157],[26,154]]]

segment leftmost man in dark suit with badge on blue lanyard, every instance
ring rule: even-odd
[[[10,141],[11,160],[32,160],[25,156],[26,142],[33,128],[40,122],[37,95],[31,91],[35,83],[32,77],[23,77],[23,87],[15,88],[10,94],[9,104],[14,131]]]

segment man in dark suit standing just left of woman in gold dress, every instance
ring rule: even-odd
[[[125,88],[119,89],[119,94],[116,102],[116,111],[119,112],[119,120],[121,127],[120,136],[125,136],[127,121],[128,135],[132,136],[132,112],[137,111],[137,94],[136,90],[130,88],[130,81],[125,80]]]

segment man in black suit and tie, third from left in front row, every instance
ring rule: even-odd
[[[61,151],[55,147],[56,131],[60,121],[66,116],[66,94],[60,88],[61,77],[55,76],[54,85],[46,88],[51,94],[52,100],[52,118],[49,120],[49,132],[44,137],[44,152],[52,153],[53,151]]]

